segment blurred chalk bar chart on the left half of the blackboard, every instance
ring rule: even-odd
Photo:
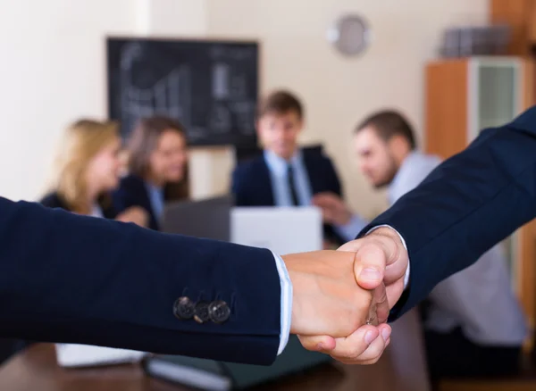
[[[191,86],[190,70],[179,65],[166,76],[144,80],[146,86],[138,87],[131,79],[132,69],[141,58],[142,48],[138,43],[125,45],[121,50],[121,124],[132,129],[130,123],[141,117],[155,114],[178,119],[188,129],[190,125]],[[147,86],[148,83],[148,86]]]

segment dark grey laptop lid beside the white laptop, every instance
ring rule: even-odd
[[[230,209],[233,196],[216,196],[198,201],[180,201],[166,204],[161,227],[163,232],[230,240]]]

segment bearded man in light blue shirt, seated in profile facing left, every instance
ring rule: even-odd
[[[393,111],[373,113],[360,124],[354,147],[365,178],[374,187],[388,188],[389,204],[440,164],[439,157],[416,150],[413,129]],[[325,220],[348,228],[348,241],[354,238],[359,220],[338,196],[321,194],[314,197],[314,204],[322,208]],[[429,302],[424,328],[432,381],[507,374],[519,368],[527,328],[499,245],[470,268],[442,281]]]

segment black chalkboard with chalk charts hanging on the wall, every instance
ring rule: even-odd
[[[108,115],[122,137],[159,114],[192,146],[255,146],[256,42],[109,37],[106,49]]]

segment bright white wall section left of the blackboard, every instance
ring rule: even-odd
[[[132,0],[16,0],[2,6],[2,196],[40,196],[65,125],[82,115],[104,118],[105,35],[136,31],[133,5]]]

